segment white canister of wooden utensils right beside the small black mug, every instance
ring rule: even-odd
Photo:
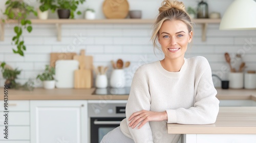
[[[244,73],[229,73],[229,88],[244,87]]]

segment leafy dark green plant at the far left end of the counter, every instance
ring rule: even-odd
[[[19,88],[19,84],[16,83],[17,76],[20,74],[21,70],[17,68],[11,69],[10,67],[6,66],[6,63],[1,63],[1,71],[3,78],[6,80],[5,85],[8,85],[8,88]]]

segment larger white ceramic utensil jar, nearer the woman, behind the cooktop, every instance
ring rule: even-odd
[[[125,86],[125,74],[123,69],[112,70],[110,85],[113,88],[123,88]]]

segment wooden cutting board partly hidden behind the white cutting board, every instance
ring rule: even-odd
[[[51,53],[50,66],[55,67],[57,60],[72,60],[76,53]]]

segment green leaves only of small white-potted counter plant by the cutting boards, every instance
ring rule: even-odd
[[[55,68],[50,65],[46,65],[45,71],[42,74],[39,74],[36,79],[40,79],[41,81],[51,81],[54,80]]]

